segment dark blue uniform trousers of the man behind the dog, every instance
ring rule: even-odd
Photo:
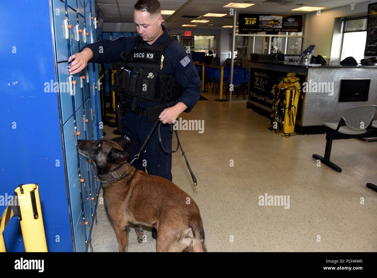
[[[143,109],[147,106],[150,106],[150,103],[138,102],[136,104],[136,107]],[[137,115],[127,109],[123,119],[122,135],[126,134],[130,139],[139,141],[139,144],[130,143],[126,148],[126,151],[131,154],[128,162],[132,161],[134,156],[139,152],[154,125],[155,121],[148,122],[146,116]],[[145,152],[141,153],[139,158],[136,159],[132,165],[137,170],[143,171],[145,171],[144,167],[146,166],[148,174],[160,176],[172,181],[172,154],[165,153],[162,150],[158,140],[158,126],[159,123],[144,148]],[[170,131],[169,125],[161,124],[161,141],[166,150],[172,149],[172,137],[173,132]]]

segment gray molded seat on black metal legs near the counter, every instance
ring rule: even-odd
[[[372,126],[373,117],[377,111],[377,105],[364,105],[347,109],[343,112],[339,122],[323,123],[328,130],[326,133],[325,156],[313,154],[313,158],[319,159],[323,164],[341,172],[342,168],[330,161],[331,146],[333,140],[350,139],[376,136],[376,131],[368,131]],[[373,123],[377,121],[373,121]]]

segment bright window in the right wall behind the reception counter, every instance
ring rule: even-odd
[[[351,56],[360,63],[360,60],[364,58],[366,24],[366,16],[343,19],[343,42],[340,60]]]

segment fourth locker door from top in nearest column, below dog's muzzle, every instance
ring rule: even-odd
[[[77,226],[77,223],[81,219],[81,195],[80,195],[80,179],[78,177],[78,167],[76,165],[73,176],[69,180],[69,205],[72,214],[73,227]]]

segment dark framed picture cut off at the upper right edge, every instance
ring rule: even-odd
[[[377,3],[368,5],[368,24],[366,27],[365,56],[377,55]]]

